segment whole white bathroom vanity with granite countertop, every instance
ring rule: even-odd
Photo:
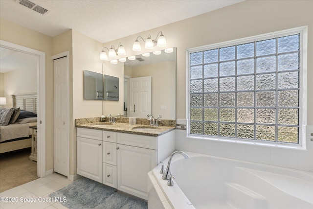
[[[147,173],[175,148],[175,127],[128,123],[76,127],[77,174],[142,199],[147,199]]]

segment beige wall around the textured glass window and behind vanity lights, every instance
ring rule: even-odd
[[[246,0],[213,12],[164,25],[149,31],[105,43],[123,44],[127,56],[135,55],[132,45],[137,36],[155,38],[162,31],[167,47],[177,47],[176,118],[186,118],[186,49],[249,36],[309,26],[308,57],[313,56],[313,1],[311,0]],[[141,43],[143,46],[143,43]],[[147,50],[146,50],[147,51]],[[308,80],[313,78],[313,60],[308,59]],[[313,83],[308,82],[308,89]],[[313,92],[308,93],[308,107],[313,106]],[[313,108],[308,108],[308,124],[313,125]]]

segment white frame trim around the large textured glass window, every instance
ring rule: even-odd
[[[281,142],[270,142],[270,141],[255,141],[251,139],[229,139],[224,137],[210,137],[205,135],[190,135],[189,134],[189,126],[190,126],[190,53],[199,52],[203,50],[210,50],[219,47],[240,45],[249,42],[255,42],[259,40],[270,39],[278,36],[288,36],[295,33],[300,33],[300,64],[299,64],[299,143],[291,144],[291,143],[281,143]],[[287,30],[281,30],[271,33],[266,33],[262,35],[256,35],[251,37],[246,37],[242,39],[236,39],[231,41],[226,41],[217,44],[211,44],[206,46],[199,46],[194,48],[186,49],[186,134],[187,138],[195,138],[195,139],[212,139],[212,140],[221,140],[227,142],[236,142],[236,143],[245,143],[245,144],[255,144],[255,145],[265,145],[265,146],[275,146],[281,148],[291,148],[291,149],[299,149],[306,150],[306,131],[305,127],[307,125],[307,53],[308,53],[308,26],[301,26],[296,28],[291,28]]]

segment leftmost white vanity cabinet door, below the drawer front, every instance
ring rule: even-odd
[[[77,137],[77,174],[102,183],[102,141]]]

